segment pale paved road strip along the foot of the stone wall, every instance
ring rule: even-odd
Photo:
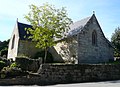
[[[0,86],[3,87],[3,86]],[[104,81],[104,82],[89,82],[89,83],[75,83],[75,84],[58,84],[50,86],[9,86],[9,87],[120,87],[120,80]]]

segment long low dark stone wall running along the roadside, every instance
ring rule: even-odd
[[[0,79],[0,85],[50,85],[60,83],[120,80],[120,65],[42,64],[38,73],[31,73],[25,77],[23,76],[19,78]]]

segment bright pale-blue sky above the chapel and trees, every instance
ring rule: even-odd
[[[24,16],[30,11],[29,5],[37,6],[48,2],[56,8],[66,7],[68,17],[73,22],[92,16],[93,11],[109,40],[115,28],[120,26],[120,0],[1,0],[0,1],[0,41],[11,37],[16,20],[26,23]]]

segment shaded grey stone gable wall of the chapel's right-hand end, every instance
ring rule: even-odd
[[[97,33],[97,44],[92,45],[92,33]],[[92,17],[78,34],[78,62],[101,63],[113,59],[113,47],[105,38],[96,17]]]

